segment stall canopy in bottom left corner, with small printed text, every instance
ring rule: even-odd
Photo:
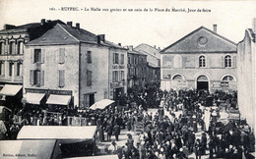
[[[0,158],[57,158],[57,146],[56,140],[1,140]]]

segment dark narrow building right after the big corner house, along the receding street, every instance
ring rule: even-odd
[[[144,86],[147,78],[147,55],[128,47],[128,65],[127,65],[127,86],[128,88],[138,88]]]

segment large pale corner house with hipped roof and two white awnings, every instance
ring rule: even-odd
[[[126,92],[127,50],[80,24],[57,24],[29,42],[25,52],[24,96],[29,103],[84,108]]]

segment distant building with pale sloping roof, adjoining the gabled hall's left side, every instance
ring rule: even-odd
[[[160,48],[142,43],[134,48],[147,55],[147,78],[146,83],[160,83]]]

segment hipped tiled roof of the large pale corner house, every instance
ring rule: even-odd
[[[96,34],[83,28],[57,24],[40,37],[30,41],[28,45],[78,44],[80,42],[97,44]],[[125,49],[107,40],[101,40],[100,45]]]

